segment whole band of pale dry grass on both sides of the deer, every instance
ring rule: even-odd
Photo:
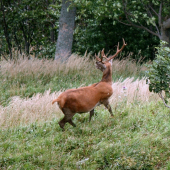
[[[120,80],[113,83],[113,91],[110,98],[112,108],[122,102],[148,103],[158,99],[156,94],[149,92],[145,79],[133,81],[132,78],[127,78],[123,82]],[[0,127],[25,126],[34,122],[61,118],[62,112],[58,106],[51,104],[60,93],[61,91],[50,93],[48,90],[44,94],[35,94],[31,98],[13,97],[8,106],[0,106]]]

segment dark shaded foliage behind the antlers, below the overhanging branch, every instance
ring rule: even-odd
[[[149,34],[147,31],[128,27],[115,22],[113,19],[103,19],[95,21],[87,20],[77,25],[73,44],[73,52],[83,54],[86,50],[92,54],[98,53],[105,48],[110,54],[114,54],[118,42],[122,43],[122,38],[127,42],[127,47],[123,51],[123,57],[129,56],[136,60],[145,58],[145,60],[155,57],[155,46],[158,45],[159,39]]]

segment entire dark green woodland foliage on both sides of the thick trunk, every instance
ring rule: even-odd
[[[161,3],[163,22],[168,18],[169,1],[74,0],[77,16],[73,52],[84,54],[87,50],[94,54],[105,48],[112,53],[124,38],[128,46],[122,56],[153,59],[161,34],[160,17],[156,15]],[[0,5],[1,56],[13,58],[13,51],[18,50],[21,54],[54,57],[61,0],[2,0]]]

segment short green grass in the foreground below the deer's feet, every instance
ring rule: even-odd
[[[114,118],[99,107],[58,120],[0,131],[2,169],[169,169],[169,110],[162,103],[120,106]]]

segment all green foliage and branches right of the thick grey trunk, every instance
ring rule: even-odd
[[[137,59],[140,58],[138,53],[146,59],[153,59],[154,46],[158,45],[158,40],[169,42],[169,0],[116,0],[114,2],[75,0],[74,2],[81,8],[81,14],[84,14],[81,21],[86,18],[86,24],[81,23],[79,28],[83,32],[79,37],[83,37],[85,42],[82,43],[82,49],[85,47],[96,49],[102,44],[106,49],[111,45],[110,50],[123,36],[128,45],[130,44],[126,52],[133,52],[136,55],[133,57]],[[93,17],[88,18],[88,16]]]

